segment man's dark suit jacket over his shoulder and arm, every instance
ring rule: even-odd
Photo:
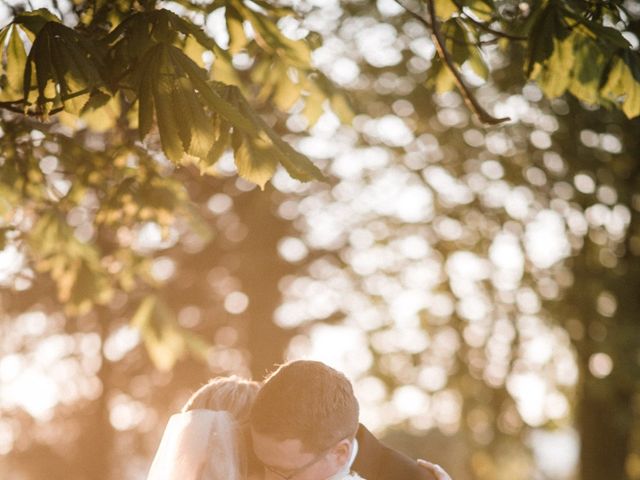
[[[356,438],[358,455],[351,468],[366,480],[436,480],[415,459],[387,447],[364,425],[358,428]]]

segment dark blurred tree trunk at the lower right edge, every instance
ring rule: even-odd
[[[636,424],[633,399],[640,373],[637,352],[640,337],[637,312],[640,308],[640,262],[627,253],[615,268],[597,265],[597,246],[588,243],[574,269],[576,283],[571,301],[578,307],[584,325],[577,342],[580,383],[576,424],[580,434],[582,480],[624,480],[631,435]],[[599,312],[598,299],[607,293],[617,307],[611,316]],[[604,378],[592,372],[594,354],[608,355],[613,369]]]

